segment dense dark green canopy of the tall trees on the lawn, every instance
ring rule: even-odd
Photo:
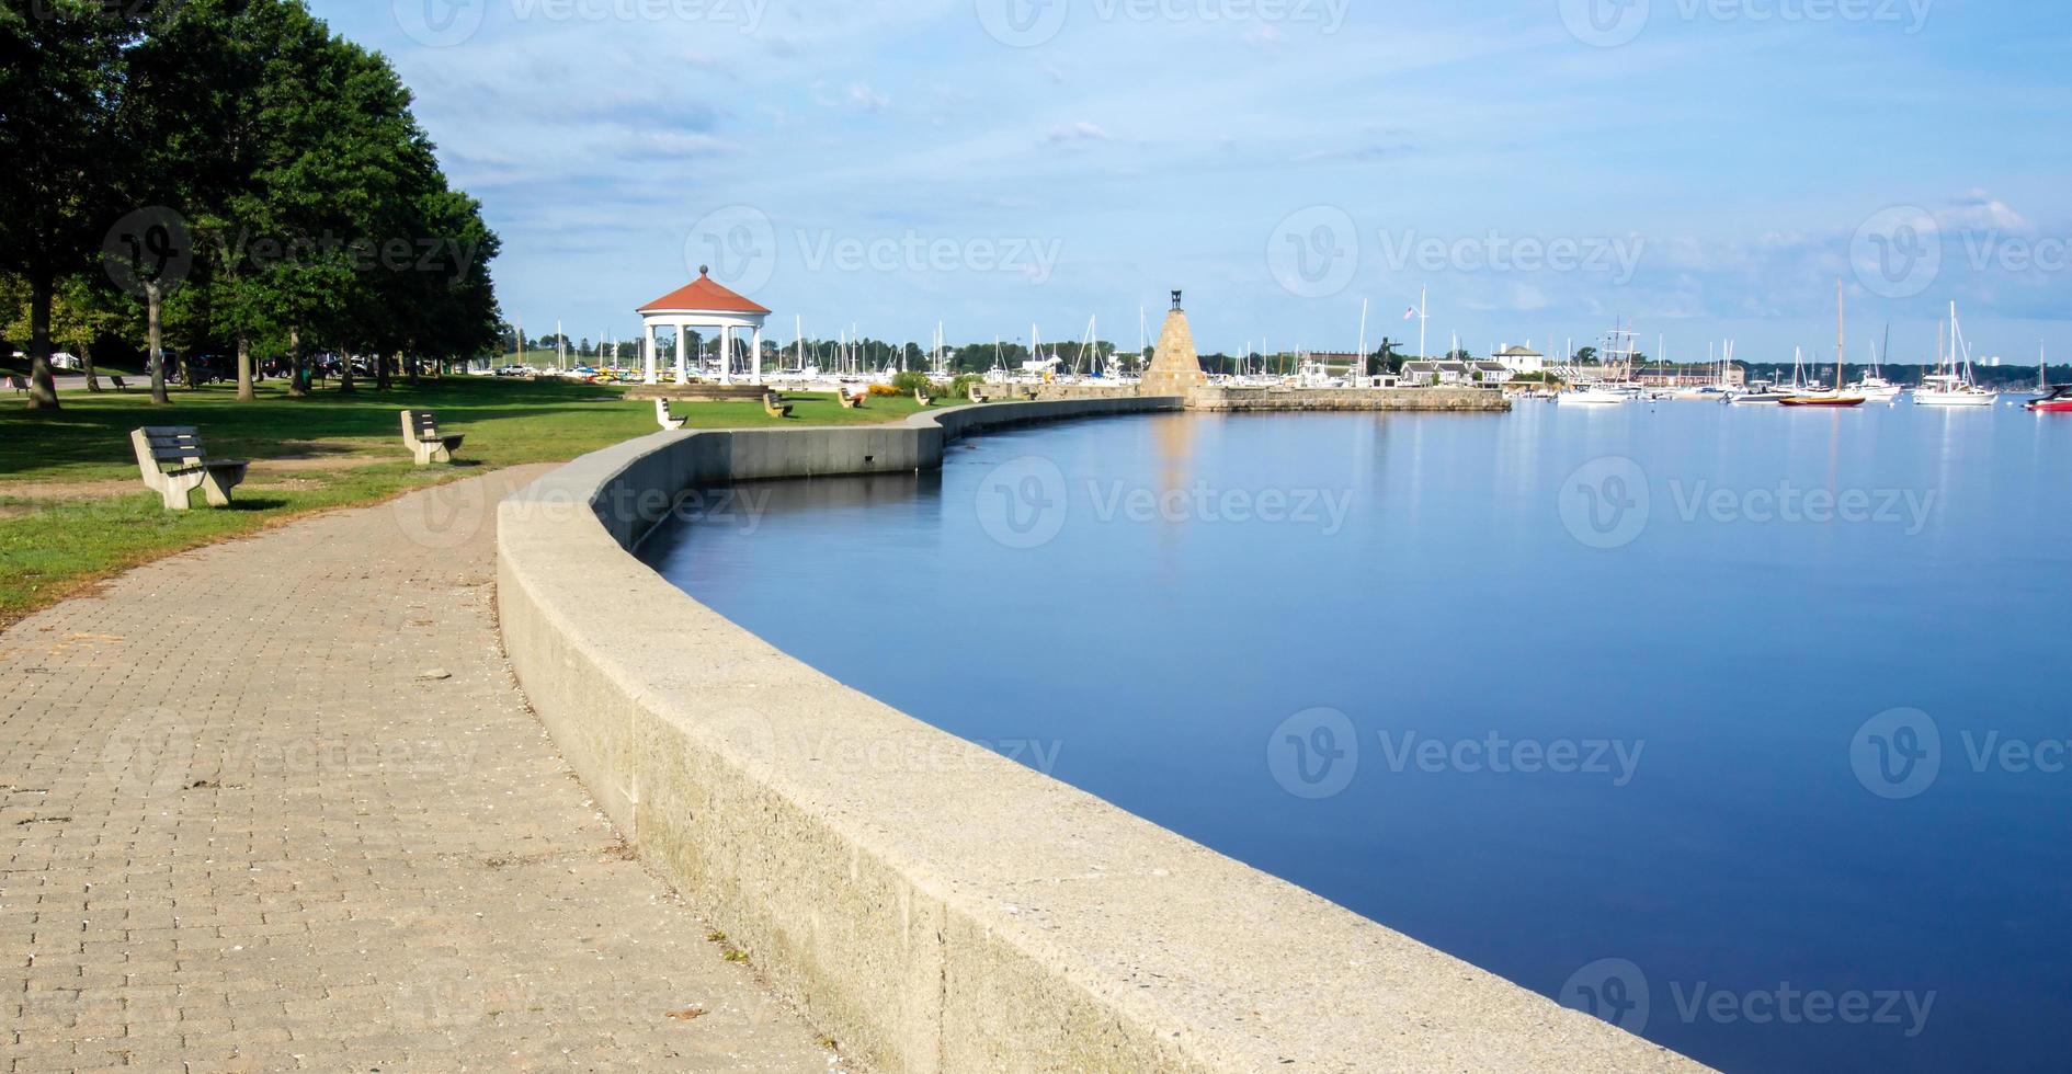
[[[410,106],[300,0],[0,0],[0,294],[27,306],[29,406],[58,404],[54,310],[122,323],[112,288],[160,401],[162,327],[234,348],[247,395],[255,348],[377,356],[383,383],[493,348],[497,236]]]

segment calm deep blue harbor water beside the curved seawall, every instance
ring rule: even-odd
[[[1726,1070],[2066,1068],[2072,418],[1146,416],[750,495],[649,561],[1426,944]]]

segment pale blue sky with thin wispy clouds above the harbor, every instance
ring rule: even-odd
[[[711,265],[789,339],[2072,360],[2035,0],[313,0],[485,203],[506,317]],[[1890,329],[1888,329],[1890,325]],[[1552,341],[1552,348],[1550,348]]]

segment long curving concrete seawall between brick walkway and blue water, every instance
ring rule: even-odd
[[[1179,406],[584,455],[499,507],[506,648],[640,857],[879,1070],[1695,1070],[847,689],[626,550],[692,486],[930,468],[978,428]]]

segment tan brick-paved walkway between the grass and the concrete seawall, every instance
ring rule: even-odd
[[[512,470],[0,633],[0,1070],[829,1070],[503,664]]]

